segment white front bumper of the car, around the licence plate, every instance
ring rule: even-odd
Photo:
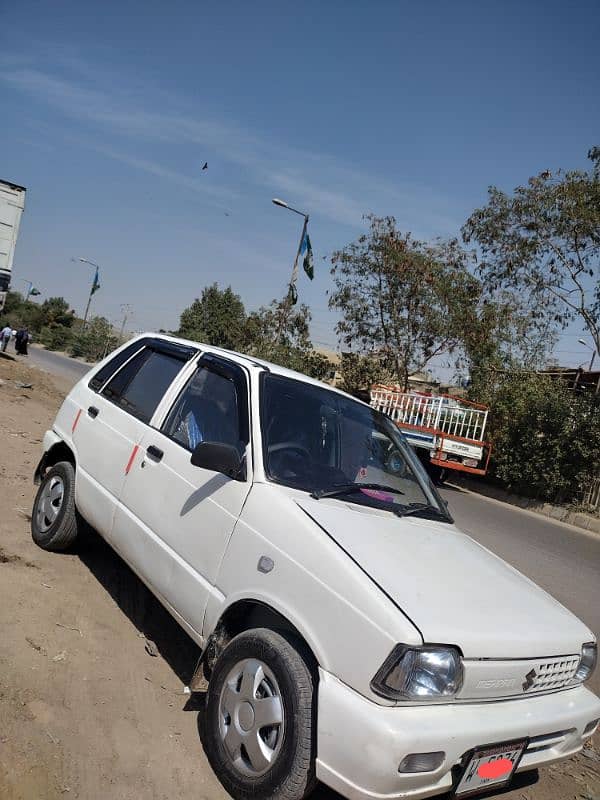
[[[573,755],[600,717],[583,686],[487,703],[380,706],[320,671],[317,777],[350,800],[422,798],[452,788],[453,767],[474,747],[528,737],[518,772]],[[434,772],[398,772],[409,753],[444,751]],[[456,775],[456,770],[454,771]]]

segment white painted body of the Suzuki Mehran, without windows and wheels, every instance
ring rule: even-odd
[[[317,501],[269,481],[261,375],[322,384],[240,354],[159,338],[193,344],[198,355],[148,424],[89,388],[112,353],[70,392],[44,452],[61,441],[71,448],[79,511],[200,646],[240,601],[268,606],[299,632],[319,669],[323,782],[353,800],[423,798],[451,788],[451,770],[482,744],[536,737],[541,744],[525,753],[520,768],[581,748],[584,727],[600,717],[600,701],[584,687],[503,694],[509,683],[518,690],[539,659],[580,653],[594,640],[583,623],[449,522],[402,519],[348,498]],[[246,482],[192,467],[189,451],[159,432],[206,351],[247,372]],[[98,408],[95,418],[90,406]],[[157,462],[147,458],[151,444],[163,450]],[[272,568],[259,569],[261,558]],[[371,681],[399,643],[458,647],[462,694],[438,704],[374,694]],[[435,772],[399,774],[404,755],[436,750],[446,755]]]

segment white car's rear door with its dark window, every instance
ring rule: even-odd
[[[167,388],[198,351],[165,340],[136,340],[92,376],[76,396],[76,504],[110,539],[123,480]]]

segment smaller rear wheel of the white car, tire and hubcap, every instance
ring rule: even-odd
[[[45,473],[33,501],[31,537],[43,550],[66,550],[76,540],[75,468],[59,461]]]

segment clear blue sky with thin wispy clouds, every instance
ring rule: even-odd
[[[600,8],[528,2],[32,2],[1,12],[0,177],[28,188],[15,280],[133,329],[173,327],[208,283],[300,297],[334,344],[322,258],[365,212],[456,234],[486,188],[586,166],[600,143]],[[201,166],[208,161],[208,170]],[[24,284],[20,284],[24,286]],[[581,363],[579,329],[557,356]]]

